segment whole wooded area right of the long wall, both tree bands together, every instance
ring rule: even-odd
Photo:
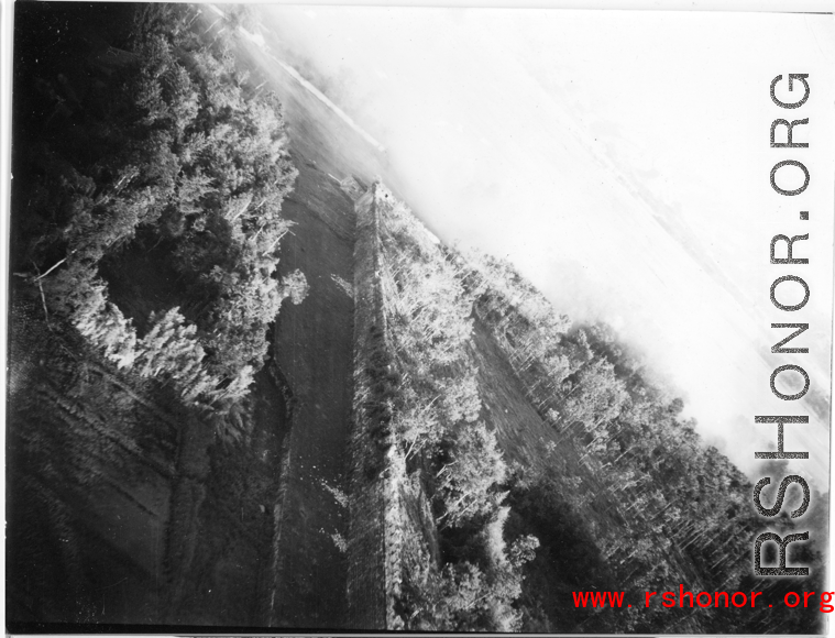
[[[774,625],[767,608],[574,607],[572,591],[624,591],[638,601],[680,583],[777,600],[816,591],[823,562],[807,543],[792,556],[813,564],[813,576],[754,579],[751,547],[763,519],[752,485],[701,441],[696,424],[681,416],[682,399],[607,326],[572,324],[510,264],[446,248],[376,188],[394,352],[385,444],[400,446],[409,470],[422,476],[441,549],[437,579],[424,576],[425,590],[406,604],[407,627],[814,631],[814,609],[782,608]],[[549,426],[532,452],[510,459],[515,446],[503,450],[490,425],[473,356],[477,331],[497,344]],[[530,436],[524,426],[514,435]],[[780,534],[798,529],[788,514],[771,525]],[[773,548],[766,556],[773,559]]]

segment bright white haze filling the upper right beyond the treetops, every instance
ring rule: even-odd
[[[259,11],[268,46],[312,65],[385,146],[383,177],[439,237],[508,258],[575,320],[612,324],[743,470],[757,475],[754,452],[776,440],[755,414],[811,414],[770,393],[777,365],[803,365],[828,396],[831,16]],[[810,74],[798,117],[812,113],[811,124],[795,139],[809,150],[768,145],[771,120],[794,116],[769,98],[771,78],[788,73]],[[780,197],[770,168],[795,156],[812,183]],[[768,264],[771,237],[804,232],[809,266]],[[801,312],[769,301],[783,274],[810,284]],[[770,322],[792,321],[811,324],[800,340],[810,354],[771,354],[785,334]],[[798,470],[825,490],[828,424],[811,420],[787,426],[785,449],[811,452]]]

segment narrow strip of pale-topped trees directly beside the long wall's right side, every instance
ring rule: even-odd
[[[519,630],[521,569],[539,542],[504,535],[507,465],[479,419],[472,298],[408,208],[382,185],[373,194],[385,334],[370,363],[381,373],[377,405],[389,413],[377,442],[397,448],[394,472],[420,477],[441,554],[405,570],[404,628]]]

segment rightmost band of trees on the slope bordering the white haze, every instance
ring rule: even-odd
[[[603,590],[617,583],[633,600],[645,591],[672,591],[679,583],[699,591],[756,588],[774,597],[778,592],[820,588],[823,562],[809,546],[794,556],[815,565],[814,576],[751,578],[750,548],[763,519],[754,510],[750,482],[700,440],[696,424],[681,418],[683,402],[608,327],[572,327],[509,264],[483,254],[464,261],[450,253],[449,258],[462,264],[460,276],[475,297],[475,316],[553,428],[547,447],[568,447],[583,465],[578,474],[567,473],[564,464],[560,471],[559,461],[545,471],[532,464],[520,468],[512,487],[519,528],[539,530],[542,556],[550,553],[562,568],[542,573],[531,565],[526,598],[539,614],[531,622],[564,627],[574,609],[554,608],[564,600],[548,596],[564,584]],[[598,483],[594,490],[583,487],[585,472]],[[780,534],[810,524],[792,521],[788,514],[771,521]],[[576,539],[573,551],[565,551],[565,536]],[[571,574],[568,583],[560,583],[559,574]],[[534,579],[542,586],[534,586]],[[779,627],[763,609],[677,612],[678,617],[672,609],[656,607],[627,617],[612,610],[587,617],[587,610],[578,609],[573,622],[583,630],[715,632],[766,627],[803,632],[817,623],[814,613],[799,609],[781,609]]]

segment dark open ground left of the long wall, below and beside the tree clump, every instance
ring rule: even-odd
[[[22,122],[30,118],[28,96],[35,95],[32,77],[56,86],[68,81],[83,100],[89,82],[84,56],[118,42],[122,32],[112,24],[129,16],[130,6],[18,11],[18,148],[31,130]],[[51,36],[57,44],[44,40]],[[118,371],[85,384],[95,373],[90,363],[79,376],[84,349],[53,334],[36,289],[12,280],[11,383],[20,393],[10,394],[9,413],[10,627],[343,624],[344,556],[333,538],[347,535],[348,513],[326,485],[345,491],[353,301],[332,276],[353,279],[353,202],[316,165],[332,156],[326,133],[316,129],[317,118],[328,119],[327,109],[289,78],[260,73],[242,52],[239,59],[255,70],[253,86],[263,76],[286,100],[299,176],[284,204],[296,226],[282,242],[279,271],[301,268],[309,296],[299,306],[285,304],[271,336],[271,359],[241,415],[249,433],[234,443],[213,439],[176,402],[143,396]],[[354,170],[328,168],[340,177]],[[25,179],[22,170],[15,174]],[[179,294],[153,253],[128,251],[106,266],[111,298],[140,328],[150,310]],[[37,443],[15,436],[19,428],[52,427],[73,437],[68,419],[117,441],[128,424],[139,433],[124,441],[128,450],[95,461],[100,475],[94,483],[77,485],[69,471],[55,476],[33,466],[28,459]],[[51,512],[23,505],[33,492],[32,502],[50,503]]]

